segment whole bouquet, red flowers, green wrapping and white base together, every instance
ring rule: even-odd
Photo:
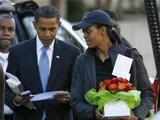
[[[140,104],[140,91],[127,79],[113,78],[100,82],[98,90],[85,94],[89,104],[97,106],[104,117],[130,116],[131,110]]]

